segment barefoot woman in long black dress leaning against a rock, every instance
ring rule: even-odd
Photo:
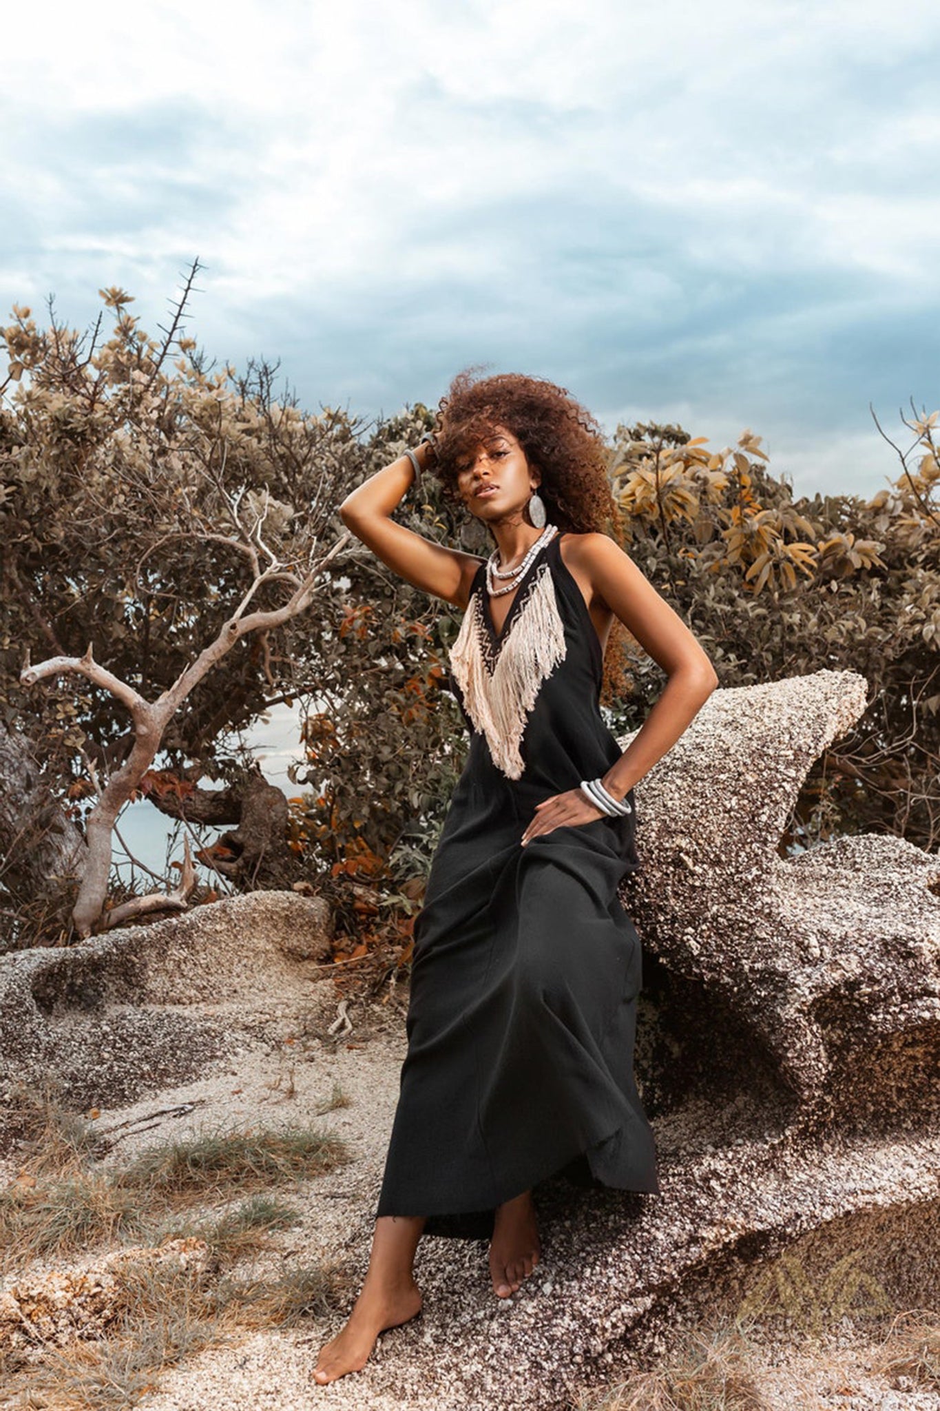
[[[488,526],[489,562],[393,522],[419,468]],[[320,1353],[321,1384],[419,1312],[423,1230],[492,1232],[493,1292],[507,1298],[538,1263],[538,1181],[658,1191],[633,1079],[640,941],[617,883],[638,866],[633,787],[717,677],[605,532],[614,512],[582,406],[537,378],[471,374],[441,402],[438,435],[340,507],[383,563],[465,610],[450,658],[471,746],[414,926],[369,1268]],[[599,711],[614,617],[668,674],[623,753]]]

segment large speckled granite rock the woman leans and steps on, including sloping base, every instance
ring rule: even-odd
[[[864,706],[851,672],[716,691],[637,786],[621,897],[661,1194],[545,1182],[541,1277],[459,1345],[452,1309],[488,1297],[485,1268],[423,1242],[431,1346],[403,1332],[371,1395],[562,1411],[678,1326],[753,1307],[781,1252],[815,1315],[855,1285],[882,1311],[936,1307],[940,861],[895,837],[777,851]]]

